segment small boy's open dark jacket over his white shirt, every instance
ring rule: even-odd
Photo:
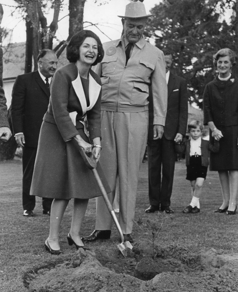
[[[211,152],[219,152],[220,143],[217,140],[214,140],[214,145],[207,141],[201,139],[201,164],[202,166],[209,166],[209,151]],[[184,140],[181,144],[175,145],[176,153],[184,153],[185,152],[185,159],[186,159],[186,166],[189,165],[190,159],[190,139]]]

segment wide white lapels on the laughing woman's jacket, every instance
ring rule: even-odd
[[[87,107],[84,89],[83,89],[82,82],[79,76],[79,72],[78,72],[77,78],[74,81],[72,81],[72,86],[79,99],[79,102],[82,107],[83,115],[84,115],[86,114],[87,110],[90,110],[95,105],[96,101],[98,100],[98,95],[101,90],[101,85],[98,84],[89,73],[89,82],[88,82],[88,95],[89,95],[89,102],[90,102],[89,107]]]

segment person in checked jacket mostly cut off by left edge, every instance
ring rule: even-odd
[[[3,17],[3,8],[0,4],[0,24]],[[7,106],[6,97],[3,90],[2,72],[3,72],[3,51],[0,47],[0,140],[6,142],[12,135],[8,119],[7,119]]]

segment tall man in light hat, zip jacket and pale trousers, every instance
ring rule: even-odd
[[[147,23],[142,2],[130,2],[122,18],[121,39],[104,44],[103,61],[95,72],[102,81],[102,154],[100,163],[114,200],[119,174],[119,223],[124,240],[131,237],[139,168],[145,152],[148,132],[149,86],[154,105],[154,139],[163,134],[167,109],[167,84],[164,54],[145,41]],[[95,230],[84,241],[109,239],[112,218],[103,198],[97,199]]]

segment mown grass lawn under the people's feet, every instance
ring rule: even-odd
[[[140,215],[146,221],[158,220],[157,213],[147,214],[149,206],[147,187],[147,163],[142,164],[141,178],[138,186],[136,201],[137,220]],[[166,215],[164,227],[156,244],[162,248],[181,246],[194,253],[203,248],[223,250],[223,253],[238,253],[238,216],[217,214],[213,211],[222,202],[220,184],[216,172],[208,172],[204,183],[203,197],[200,199],[201,212],[198,214],[183,214],[182,210],[190,203],[190,182],[185,180],[185,162],[176,162],[173,195],[171,207],[173,215]],[[60,239],[62,256],[52,256],[44,249],[44,241],[48,236],[49,216],[42,214],[41,199],[37,198],[34,210],[35,216],[22,216],[22,164],[20,160],[1,162],[0,164],[0,291],[23,292],[22,278],[24,272],[36,267],[47,266],[48,263],[59,262],[72,256],[76,251],[67,244],[67,233],[70,229],[72,202],[68,205],[61,227]],[[94,229],[95,199],[89,201],[81,234],[88,235]],[[146,235],[138,227],[134,227],[133,239],[135,244]],[[109,241],[88,244],[91,248],[116,249],[119,235],[113,227]]]

